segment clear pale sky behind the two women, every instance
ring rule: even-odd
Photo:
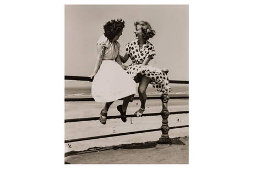
[[[149,39],[156,56],[149,65],[166,67],[171,80],[188,80],[188,5],[65,5],[65,75],[89,76],[96,62],[96,42],[103,25],[125,21],[121,55],[135,39],[133,22],[148,21],[156,35]],[[130,64],[130,59],[125,65]],[[90,86],[90,82],[65,81],[66,87]]]

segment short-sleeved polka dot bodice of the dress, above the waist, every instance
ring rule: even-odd
[[[151,57],[153,59],[155,57],[154,46],[149,41],[146,41],[141,49],[139,49],[138,40],[129,42],[126,45],[126,53],[130,55],[133,64],[142,64],[145,58]]]

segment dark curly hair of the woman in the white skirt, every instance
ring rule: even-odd
[[[113,39],[124,28],[124,21],[122,19],[116,19],[108,21],[104,25],[104,35],[107,39]]]

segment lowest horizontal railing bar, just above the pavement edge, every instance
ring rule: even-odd
[[[170,127],[170,129],[183,128],[183,127],[188,127],[188,125]],[[69,140],[65,140],[65,143],[71,143],[71,142],[83,141],[83,140],[91,140],[91,139],[109,138],[109,137],[116,137],[116,136],[135,134],[135,133],[154,132],[154,131],[161,131],[161,128],[149,129],[149,130],[144,130],[144,131],[134,131],[134,132],[107,134],[107,135],[100,135],[100,136],[88,137],[88,138],[69,139]]]

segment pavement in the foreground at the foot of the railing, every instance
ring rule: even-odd
[[[65,154],[65,164],[188,164],[188,136],[158,141],[94,147]]]

